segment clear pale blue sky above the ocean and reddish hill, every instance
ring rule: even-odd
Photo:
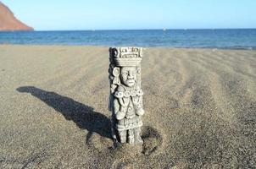
[[[256,0],[0,0],[36,30],[256,28]]]

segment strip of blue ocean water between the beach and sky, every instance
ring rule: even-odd
[[[256,29],[0,32],[0,44],[256,49]]]

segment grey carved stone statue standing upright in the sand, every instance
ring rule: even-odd
[[[142,144],[142,48],[109,48],[109,111],[115,141]]]

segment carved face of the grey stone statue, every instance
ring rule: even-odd
[[[120,70],[120,78],[123,85],[132,87],[136,83],[136,68],[135,67],[123,67]]]

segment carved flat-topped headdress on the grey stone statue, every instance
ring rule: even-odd
[[[117,67],[139,66],[142,61],[141,47],[110,48],[110,62]]]

